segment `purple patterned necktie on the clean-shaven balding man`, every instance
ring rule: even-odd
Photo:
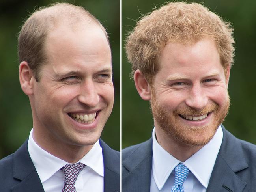
[[[62,192],[77,192],[75,188],[75,182],[79,173],[83,170],[86,165],[82,163],[66,164],[61,168],[65,174],[64,187]]]

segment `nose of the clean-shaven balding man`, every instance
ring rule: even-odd
[[[87,80],[81,84],[78,101],[86,106],[93,108],[99,103],[100,96],[97,87],[92,80]]]

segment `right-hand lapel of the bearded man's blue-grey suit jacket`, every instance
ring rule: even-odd
[[[223,126],[223,140],[207,192],[242,192],[247,183],[235,173],[248,168],[243,149],[237,138]]]

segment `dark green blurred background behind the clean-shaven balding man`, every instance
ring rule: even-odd
[[[28,13],[50,0],[0,1],[0,158],[16,151],[32,128],[28,97],[19,85],[17,34]],[[64,2],[59,0],[58,2]],[[101,138],[120,151],[120,1],[66,0],[85,7],[107,28],[112,48],[115,101]]]

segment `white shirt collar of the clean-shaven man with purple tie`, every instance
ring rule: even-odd
[[[28,152],[40,177],[40,180],[43,183],[52,177],[52,175],[60,170],[60,168],[62,168],[65,164],[68,164],[68,162],[55,157],[54,155],[39,147],[39,145],[37,145],[34,141],[32,133],[33,129],[30,131],[28,138]],[[92,170],[94,170],[102,177],[104,176],[103,155],[102,148],[99,145],[99,140],[97,140],[92,149],[78,162],[92,168]]]

